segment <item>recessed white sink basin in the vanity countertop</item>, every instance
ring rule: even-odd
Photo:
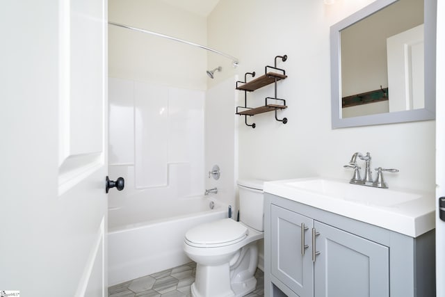
[[[385,207],[421,198],[421,195],[416,193],[391,191],[369,186],[357,186],[355,184],[349,184],[346,181],[337,181],[334,179],[316,178],[293,181],[287,185],[297,188],[300,191],[318,193],[333,199]]]

